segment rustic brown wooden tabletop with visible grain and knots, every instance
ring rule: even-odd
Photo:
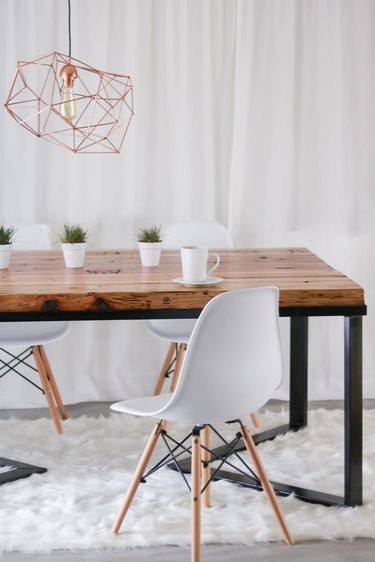
[[[0,313],[196,309],[215,295],[276,285],[280,307],[363,306],[364,291],[306,248],[215,250],[216,285],[173,283],[179,251],[163,250],[159,267],[142,267],[138,250],[90,250],[82,269],[66,269],[60,250],[14,251],[0,270]]]

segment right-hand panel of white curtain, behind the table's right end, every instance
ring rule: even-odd
[[[244,0],[236,15],[231,232],[306,246],[365,288],[373,397],[375,3]],[[311,398],[342,397],[342,325],[310,319]]]

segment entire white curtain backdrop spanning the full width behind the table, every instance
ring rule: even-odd
[[[365,288],[374,398],[374,24],[373,0],[72,0],[72,55],[130,74],[135,117],[120,155],[73,155],[1,112],[0,221],[126,248],[147,222],[215,219],[237,246],[306,246]],[[0,37],[5,100],[17,60],[67,52],[67,2],[2,0]],[[149,392],[164,352],[142,322],[49,346],[66,403]],[[342,397],[342,358],[342,319],[312,319],[311,399]],[[40,404],[0,379],[0,407]]]

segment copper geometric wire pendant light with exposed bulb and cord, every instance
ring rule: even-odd
[[[19,61],[5,107],[38,137],[76,153],[119,153],[133,112],[130,76],[53,52]]]

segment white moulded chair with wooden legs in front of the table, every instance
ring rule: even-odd
[[[213,427],[212,424],[230,422],[239,424],[240,436],[284,539],[288,544],[293,542],[254,441],[240,420],[247,412],[263,406],[283,377],[278,305],[276,287],[231,291],[213,298],[194,327],[175,392],[111,406],[121,413],[160,420],[141,456],[113,532],[120,530],[160,435],[163,440],[169,436],[169,422],[190,422],[194,426],[188,436],[191,437],[192,561],[199,562],[201,495],[209,507],[210,463],[214,459],[208,428]],[[185,450],[188,448],[186,439],[180,442],[185,444]],[[173,447],[175,445],[169,447],[170,452]],[[177,453],[172,453],[171,459],[175,460]],[[168,461],[162,462],[162,466]],[[151,469],[149,474],[153,471]]]

